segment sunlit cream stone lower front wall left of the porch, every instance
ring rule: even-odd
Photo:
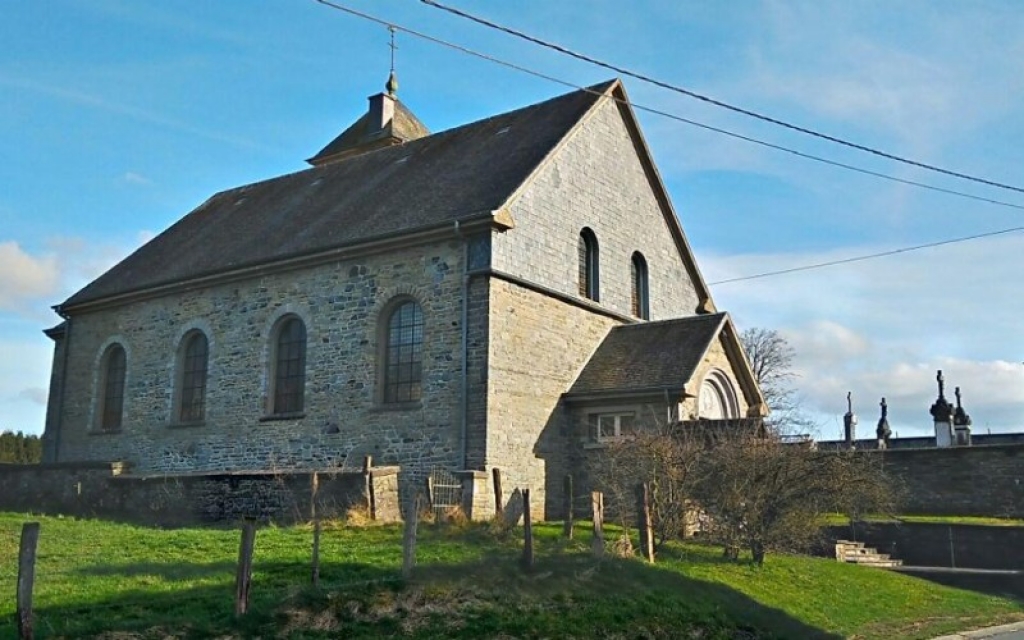
[[[486,466],[502,469],[506,501],[529,487],[534,508],[554,514],[569,464],[559,400],[620,323],[499,279],[490,309]]]

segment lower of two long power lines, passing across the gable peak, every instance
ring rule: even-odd
[[[482,60],[486,60],[488,62],[494,62],[496,65],[501,65],[502,67],[506,67],[508,69],[512,69],[514,71],[517,71],[517,72],[520,72],[520,73],[523,73],[523,74],[526,74],[526,75],[529,75],[529,76],[534,76],[535,78],[541,78],[542,80],[547,80],[549,82],[553,82],[555,84],[562,85],[562,86],[565,86],[565,87],[569,87],[569,88],[572,88],[572,89],[577,89],[577,90],[580,90],[580,91],[587,91],[588,93],[591,93],[591,94],[594,94],[594,95],[603,95],[601,92],[595,91],[595,90],[590,89],[588,87],[584,87],[582,85],[578,85],[575,83],[568,82],[568,81],[562,80],[560,78],[555,78],[554,76],[550,76],[550,75],[544,74],[542,72],[538,72],[538,71],[535,71],[535,70],[531,70],[531,69],[527,69],[527,68],[522,67],[520,65],[516,65],[514,62],[509,62],[508,60],[503,60],[503,59],[495,57],[493,55],[488,55],[486,53],[481,53],[479,51],[470,49],[468,47],[464,47],[464,46],[459,45],[459,44],[455,44],[453,42],[449,42],[446,40],[441,40],[440,38],[436,38],[434,36],[430,36],[430,35],[425,34],[423,32],[419,32],[419,31],[416,31],[414,29],[410,29],[408,27],[402,27],[402,26],[396,25],[394,23],[391,23],[391,22],[388,22],[388,20],[385,20],[385,19],[381,19],[381,18],[376,17],[374,15],[371,15],[369,13],[366,13],[366,12],[362,12],[362,11],[359,11],[359,10],[356,10],[356,9],[352,9],[352,8],[349,8],[349,7],[346,7],[346,6],[338,4],[336,2],[332,2],[331,0],[314,0],[314,1],[317,2],[317,3],[319,3],[319,4],[325,5],[327,7],[330,7],[330,8],[333,8],[333,9],[337,9],[339,11],[343,11],[343,12],[348,13],[350,15],[355,15],[357,17],[361,17],[364,19],[376,23],[378,25],[381,25],[382,27],[386,27],[388,29],[394,29],[394,30],[397,30],[397,31],[401,31],[401,32],[407,33],[407,34],[409,34],[411,36],[420,38],[422,40],[426,40],[427,42],[431,42],[433,44],[437,44],[437,45],[440,45],[440,46],[443,46],[443,47],[447,47],[450,49],[454,49],[454,50],[459,51],[461,53],[466,53],[467,55],[472,55],[474,57],[480,58]],[[654,108],[651,108],[651,106],[645,106],[643,104],[638,104],[636,102],[632,102],[632,101],[629,101],[629,100],[623,100],[623,99],[620,99],[620,98],[617,98],[615,96],[609,96],[609,97],[611,99],[615,100],[616,102],[620,102],[622,104],[626,104],[626,105],[631,106],[631,108],[633,108],[633,109],[635,109],[637,111],[642,111],[642,112],[646,112],[646,113],[649,113],[649,114],[654,114],[656,116],[662,116],[664,118],[668,118],[670,120],[675,120],[677,122],[688,124],[690,126],[697,127],[697,128],[700,128],[700,129],[705,129],[707,131],[712,131],[714,133],[720,133],[722,135],[726,135],[726,136],[729,136],[729,137],[732,137],[732,138],[735,138],[735,139],[738,139],[738,140],[743,140],[745,142],[751,142],[753,144],[759,144],[759,145],[767,147],[767,148],[772,148],[772,150],[775,150],[775,151],[784,152],[786,154],[791,154],[793,156],[797,156],[798,158],[803,158],[805,160],[811,160],[811,161],[819,162],[819,163],[822,163],[822,164],[825,164],[825,165],[829,165],[829,166],[833,166],[833,167],[838,167],[838,168],[841,168],[841,169],[847,169],[849,171],[855,171],[857,173],[861,173],[861,174],[864,174],[864,175],[873,176],[873,177],[877,177],[877,178],[882,178],[884,180],[889,180],[889,181],[892,181],[892,182],[898,182],[898,183],[901,183],[901,184],[908,184],[908,185],[911,185],[911,186],[918,186],[918,187],[926,188],[926,189],[929,189],[929,190],[932,190],[932,191],[937,191],[937,193],[940,193],[940,194],[946,194],[946,195],[949,195],[949,196],[956,196],[958,198],[966,198],[968,200],[974,200],[974,201],[977,201],[977,202],[984,202],[984,203],[988,203],[988,204],[991,204],[991,205],[997,205],[997,206],[1000,206],[1000,207],[1010,207],[1010,208],[1013,208],[1013,209],[1024,210],[1024,205],[1018,205],[1018,204],[1014,204],[1014,203],[1010,203],[1010,202],[1006,202],[1006,201],[995,200],[995,199],[992,199],[992,198],[984,198],[982,196],[975,196],[973,194],[967,194],[967,193],[958,191],[958,190],[955,190],[955,189],[944,188],[944,187],[941,187],[941,186],[935,186],[933,184],[928,184],[928,183],[925,183],[925,182],[919,182],[919,181],[915,181],[915,180],[908,180],[908,179],[905,179],[905,178],[896,177],[894,175],[889,175],[889,174],[882,173],[882,172],[879,172],[879,171],[872,171],[870,169],[864,169],[862,167],[857,167],[855,165],[850,165],[850,164],[838,162],[838,161],[835,161],[835,160],[829,160],[827,158],[822,158],[820,156],[815,156],[813,154],[806,154],[804,152],[800,152],[800,151],[797,151],[797,150],[794,150],[794,148],[790,148],[787,146],[782,146],[780,144],[775,144],[773,142],[767,142],[765,140],[761,140],[761,139],[758,139],[758,138],[755,138],[755,137],[751,137],[751,136],[748,136],[748,135],[736,133],[734,131],[729,131],[728,129],[722,129],[720,127],[715,127],[715,126],[712,126],[712,125],[708,125],[708,124],[705,124],[705,123],[701,123],[701,122],[697,122],[695,120],[690,120],[688,118],[684,118],[682,116],[678,116],[676,114],[672,114],[670,112],[666,112],[666,111],[663,111],[663,110],[654,109]]]

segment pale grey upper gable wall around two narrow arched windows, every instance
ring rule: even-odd
[[[511,206],[516,226],[495,237],[494,268],[579,295],[578,243],[597,236],[600,304],[631,314],[634,251],[647,261],[650,318],[692,315],[693,284],[615,102],[604,100]]]

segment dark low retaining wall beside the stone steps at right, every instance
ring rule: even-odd
[[[930,522],[857,522],[829,526],[828,542],[855,539],[909,566],[1024,569],[1024,526]]]

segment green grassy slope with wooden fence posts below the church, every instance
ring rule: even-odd
[[[13,638],[23,514],[0,514],[0,638]],[[396,526],[326,527],[322,585],[311,531],[264,527],[251,613],[232,615],[237,529],[42,523],[37,637],[81,638],[929,638],[1024,620],[1013,600],[826,559],[769,556],[764,567],[679,545],[651,566],[597,561],[589,535],[539,525],[535,570],[519,529],[422,525],[419,564],[399,579]]]

